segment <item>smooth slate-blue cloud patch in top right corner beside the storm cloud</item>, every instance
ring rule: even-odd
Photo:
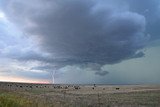
[[[146,17],[146,30],[151,35],[151,40],[160,38],[160,1],[159,0],[129,0],[130,10]]]

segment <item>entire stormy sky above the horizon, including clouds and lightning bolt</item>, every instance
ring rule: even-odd
[[[159,28],[159,0],[0,0],[0,81],[160,84]]]

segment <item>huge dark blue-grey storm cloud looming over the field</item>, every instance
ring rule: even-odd
[[[12,0],[4,11],[27,35],[39,38],[41,49],[51,54],[48,62],[104,65],[142,57],[137,52],[149,39],[145,17],[116,9],[114,3],[104,5],[95,0]],[[47,59],[30,55],[24,60]]]

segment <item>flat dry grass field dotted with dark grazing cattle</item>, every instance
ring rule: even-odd
[[[160,107],[160,85],[0,82],[0,107]]]

